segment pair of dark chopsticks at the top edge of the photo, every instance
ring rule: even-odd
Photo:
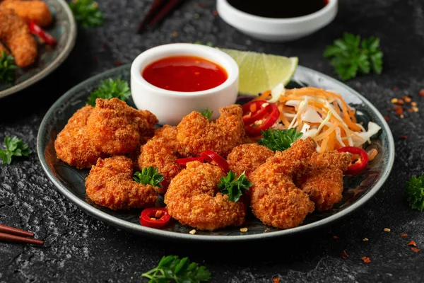
[[[155,4],[155,2],[160,2]],[[178,4],[180,4],[183,0],[155,0],[153,1],[153,4],[148,11],[148,18],[144,18],[143,21],[141,21],[139,25],[138,33],[142,33],[143,30],[146,30],[148,28],[153,28],[157,23],[163,20],[165,16],[167,16],[168,13],[172,11],[173,8],[175,8]],[[155,6],[155,7],[153,7]],[[146,16],[146,17],[147,17]]]

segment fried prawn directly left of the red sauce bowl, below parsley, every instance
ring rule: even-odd
[[[129,154],[140,148],[143,137],[153,134],[157,122],[148,110],[136,110],[118,98],[98,98],[87,120],[87,132],[105,154]]]

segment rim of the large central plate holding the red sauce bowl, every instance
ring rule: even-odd
[[[107,71],[104,71],[100,74],[97,74],[95,76],[90,77],[89,79],[86,79],[85,81],[82,81],[81,83],[78,83],[76,86],[73,86],[69,91],[66,91],[64,95],[62,95],[46,112],[45,117],[43,117],[42,122],[40,124],[40,128],[38,129],[37,134],[37,154],[38,158],[40,160],[40,163],[42,165],[43,170],[45,171],[47,177],[49,180],[52,181],[55,187],[61,192],[62,195],[64,195],[68,200],[71,200],[73,204],[76,204],[77,207],[82,209],[84,212],[90,214],[91,216],[94,216],[96,219],[99,219],[102,222],[105,222],[107,224],[110,224],[114,227],[117,227],[119,229],[124,229],[125,231],[129,231],[131,233],[136,233],[141,236],[151,236],[155,238],[166,238],[167,240],[189,240],[189,241],[214,241],[214,242],[235,242],[235,241],[252,241],[252,240],[263,240],[267,238],[280,238],[283,236],[289,236],[296,233],[302,233],[308,230],[317,229],[321,226],[326,226],[327,224],[331,224],[331,222],[343,219],[344,217],[348,216],[349,214],[355,212],[357,209],[362,207],[366,202],[372,199],[372,197],[375,196],[375,194],[381,189],[381,187],[384,185],[384,183],[387,181],[387,178],[389,178],[389,175],[391,173],[391,169],[393,167],[394,163],[394,139],[393,135],[391,134],[391,130],[389,128],[389,125],[384,120],[384,117],[382,114],[375,108],[370,101],[368,101],[364,96],[360,95],[358,91],[355,91],[350,86],[347,86],[345,83],[342,83],[341,81],[337,81],[334,78],[331,78],[331,76],[327,76],[326,74],[322,74],[319,71],[315,71],[314,69],[310,69],[307,67],[298,66],[298,70],[303,71],[309,71],[315,74],[319,74],[319,76],[322,76],[324,79],[327,79],[333,83],[337,83],[343,88],[348,89],[348,91],[351,91],[355,96],[358,96],[365,105],[370,108],[374,112],[374,114],[379,119],[379,122],[382,124],[382,129],[387,133],[387,143],[389,148],[389,160],[387,162],[387,167],[384,168],[384,171],[382,172],[381,178],[375,183],[375,185],[372,187],[372,189],[367,192],[366,195],[363,195],[357,202],[352,204],[350,207],[343,209],[340,212],[337,212],[336,214],[333,214],[331,216],[328,216],[324,219],[320,219],[318,221],[312,222],[310,224],[305,224],[302,226],[298,226],[291,229],[285,229],[281,231],[273,231],[270,233],[259,233],[259,234],[248,234],[248,235],[232,235],[232,236],[208,236],[208,235],[192,235],[189,233],[177,233],[174,231],[165,231],[160,229],[152,229],[149,227],[141,226],[139,224],[134,224],[129,221],[125,221],[122,219],[119,219],[115,216],[112,216],[110,214],[107,214],[106,212],[102,212],[100,209],[97,209],[93,207],[92,205],[88,204],[87,202],[79,199],[76,197],[76,195],[73,195],[73,193],[65,187],[63,184],[60,183],[59,179],[54,177],[54,174],[52,171],[50,171],[49,167],[47,166],[47,162],[45,161],[44,155],[44,149],[41,148],[41,133],[45,132],[45,127],[47,125],[48,117],[52,116],[52,112],[58,108],[59,105],[64,100],[67,100],[69,96],[72,95],[73,91],[77,88],[80,88],[81,85],[90,83],[91,81],[96,81],[104,76],[107,76],[107,74],[119,71],[119,69],[126,69],[130,68],[131,64],[126,64],[122,67],[117,67],[113,69],[109,69]]]

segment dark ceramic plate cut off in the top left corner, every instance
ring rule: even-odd
[[[28,68],[18,68],[12,85],[0,85],[0,98],[11,95],[40,81],[64,62],[76,40],[76,24],[64,0],[45,0],[53,14],[54,22],[47,32],[57,40],[55,47],[38,45],[37,61]]]

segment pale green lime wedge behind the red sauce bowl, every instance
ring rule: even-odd
[[[298,57],[220,50],[237,62],[240,69],[239,92],[246,96],[257,96],[258,93],[273,89],[278,83],[287,85],[298,67]]]

